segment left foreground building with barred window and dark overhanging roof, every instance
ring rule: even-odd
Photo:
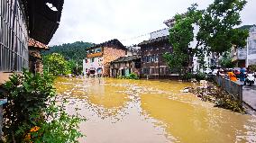
[[[28,67],[29,38],[46,45],[50,42],[59,27],[63,3],[64,0],[0,1],[0,85],[12,73]]]

